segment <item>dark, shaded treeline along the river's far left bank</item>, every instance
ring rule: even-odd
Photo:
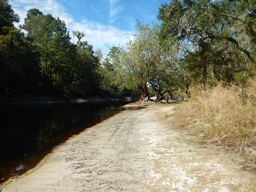
[[[19,15],[0,0],[0,95],[111,94],[101,85],[101,51],[81,41],[83,33],[73,31],[71,42],[65,22],[38,9],[27,12],[20,29],[14,22]]]

